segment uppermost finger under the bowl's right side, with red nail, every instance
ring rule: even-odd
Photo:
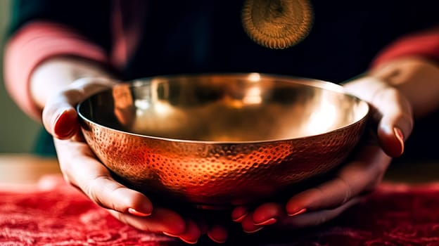
[[[346,164],[335,179],[294,195],[286,204],[287,214],[338,207],[381,181],[390,157],[379,146],[367,145]]]

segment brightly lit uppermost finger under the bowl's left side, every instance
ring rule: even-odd
[[[87,143],[54,139],[65,179],[102,207],[147,216],[153,205],[145,195],[117,183]]]

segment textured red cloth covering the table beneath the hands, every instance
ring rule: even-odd
[[[384,183],[329,224],[237,235],[228,245],[439,245],[439,183]],[[0,184],[0,245],[185,244],[122,224],[59,178],[46,178],[37,186]]]

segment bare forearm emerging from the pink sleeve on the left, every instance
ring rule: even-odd
[[[55,57],[37,66],[30,75],[30,95],[42,110],[46,100],[82,77],[114,77],[101,64],[75,57]]]

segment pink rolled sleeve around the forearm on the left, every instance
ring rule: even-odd
[[[27,115],[40,119],[41,110],[30,96],[30,75],[37,65],[54,56],[79,56],[108,63],[103,48],[70,27],[53,22],[30,22],[5,46],[4,80],[11,98]]]

